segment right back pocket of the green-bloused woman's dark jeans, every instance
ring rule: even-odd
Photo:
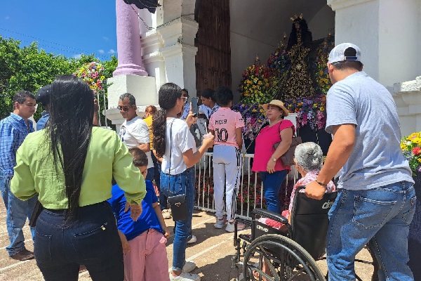
[[[74,250],[85,260],[102,259],[102,256],[111,254],[113,226],[109,223],[98,223],[91,229],[79,231],[72,236]],[[86,228],[85,228],[86,229]],[[82,232],[83,231],[83,232]]]

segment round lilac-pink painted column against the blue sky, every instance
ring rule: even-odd
[[[137,7],[133,8],[138,11]],[[113,72],[113,77],[127,74],[147,76],[142,63],[138,15],[133,8],[123,0],[116,0],[119,66]]]

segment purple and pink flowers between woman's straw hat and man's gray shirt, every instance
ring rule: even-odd
[[[285,106],[290,113],[297,113],[299,128],[309,124],[312,130],[321,130],[326,125],[325,94],[314,98],[286,99]]]

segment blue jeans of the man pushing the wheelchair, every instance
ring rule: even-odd
[[[329,280],[355,280],[355,256],[368,242],[380,264],[379,280],[413,280],[406,263],[416,200],[413,184],[405,181],[370,190],[338,190],[329,211]]]

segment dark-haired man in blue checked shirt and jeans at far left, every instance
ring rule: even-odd
[[[28,118],[35,112],[35,97],[29,91],[19,91],[13,96],[13,113],[0,121],[0,191],[6,206],[6,225],[11,242],[6,250],[12,259],[25,261],[33,259],[34,253],[25,248],[22,228],[27,217],[32,216],[36,197],[27,201],[19,200],[10,192],[13,167],[16,166],[16,152],[28,133],[34,131]],[[32,239],[35,229],[31,228]]]

